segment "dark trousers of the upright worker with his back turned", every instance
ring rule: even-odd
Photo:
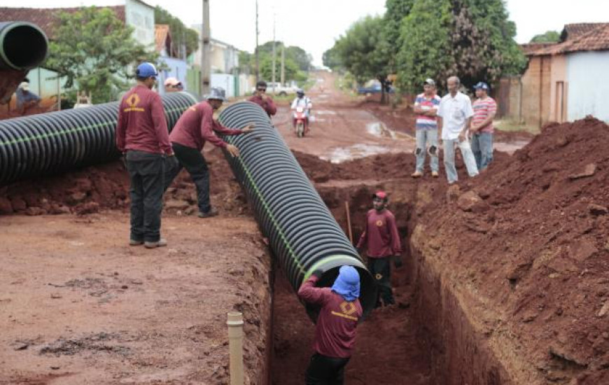
[[[156,242],[161,230],[165,156],[127,151],[125,160],[131,179],[131,239]]]

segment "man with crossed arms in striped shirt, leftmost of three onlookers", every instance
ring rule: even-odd
[[[425,167],[425,154],[429,152],[431,167],[431,176],[437,178],[437,172],[440,169],[437,160],[437,108],[440,106],[440,97],[435,94],[435,81],[433,79],[425,80],[423,83],[423,93],[416,95],[414,99],[414,113],[416,116],[416,169],[411,175],[413,178],[423,176],[423,168]],[[427,150],[427,144],[429,149]]]

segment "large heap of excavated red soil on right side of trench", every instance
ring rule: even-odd
[[[511,383],[609,384],[608,140],[594,118],[549,125],[470,188],[450,188],[414,230]],[[458,360],[437,364],[468,364]]]

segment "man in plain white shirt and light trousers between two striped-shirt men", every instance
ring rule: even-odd
[[[459,92],[461,80],[456,76],[451,76],[447,80],[449,93],[442,97],[440,106],[437,110],[437,124],[442,127],[442,143],[444,144],[444,169],[448,183],[455,183],[458,179],[454,165],[454,148],[458,146],[463,155],[463,162],[468,169],[469,176],[478,174],[478,167],[470,141],[468,140],[468,130],[472,123],[474,110],[470,97]]]

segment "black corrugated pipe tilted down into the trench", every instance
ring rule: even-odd
[[[377,289],[357,251],[336,223],[265,111],[251,102],[228,106],[221,115],[228,127],[255,123],[252,134],[224,137],[241,156],[227,159],[243,186],[272,251],[294,290],[317,269],[320,286],[330,286],[342,265],[360,273],[364,314],[374,308]],[[313,321],[317,309],[307,306]]]

